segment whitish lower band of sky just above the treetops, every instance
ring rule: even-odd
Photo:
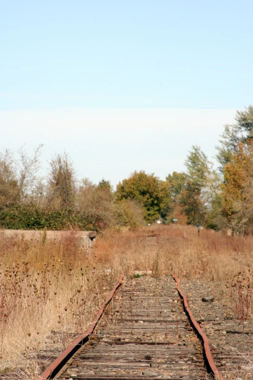
[[[44,170],[53,153],[65,150],[79,178],[95,183],[104,178],[115,188],[134,170],[155,173],[162,180],[173,171],[184,171],[192,145],[199,145],[215,162],[223,124],[232,123],[234,115],[234,110],[194,109],[0,111],[5,126],[1,145],[17,150],[25,144],[32,153],[45,144]]]

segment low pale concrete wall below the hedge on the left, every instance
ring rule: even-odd
[[[46,231],[47,239],[61,239],[67,234],[74,234],[79,239],[81,248],[87,249],[95,245],[96,231]],[[44,230],[0,230],[1,236],[24,237],[24,239],[40,239]]]

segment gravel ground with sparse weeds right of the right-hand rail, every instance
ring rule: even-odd
[[[214,361],[224,378],[253,377],[253,321],[233,315],[226,287],[221,283],[180,280],[192,314],[209,339]],[[203,302],[203,297],[214,297]]]

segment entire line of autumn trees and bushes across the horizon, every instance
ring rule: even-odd
[[[235,123],[225,125],[213,169],[199,146],[192,146],[186,170],[168,174],[165,181],[144,171],[119,182],[94,184],[78,180],[67,153],[48,164],[47,178],[39,176],[39,145],[29,155],[0,153],[0,228],[103,230],[138,228],[160,218],[202,225],[234,234],[253,232],[253,106],[237,111]]]

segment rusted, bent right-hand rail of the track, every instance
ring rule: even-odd
[[[178,291],[180,297],[183,299],[184,309],[185,309],[185,311],[186,311],[186,313],[187,313],[187,315],[188,315],[188,317],[190,319],[190,323],[192,324],[192,326],[194,327],[194,329],[197,331],[198,336],[202,340],[204,354],[206,356],[206,362],[207,362],[206,364],[208,365],[209,370],[214,375],[215,379],[217,379],[217,380],[225,380],[222,377],[220,371],[218,370],[218,368],[216,367],[216,365],[214,363],[214,360],[213,360],[213,357],[212,357],[212,354],[211,354],[211,350],[210,350],[210,346],[209,346],[206,334],[200,328],[198,322],[193,317],[193,314],[191,313],[191,311],[190,311],[190,309],[188,307],[187,298],[184,295],[184,293],[182,292],[182,290],[180,289],[180,283],[179,283],[178,278],[175,275],[173,277],[174,277],[174,280],[176,281],[176,284],[177,284],[177,291]]]

